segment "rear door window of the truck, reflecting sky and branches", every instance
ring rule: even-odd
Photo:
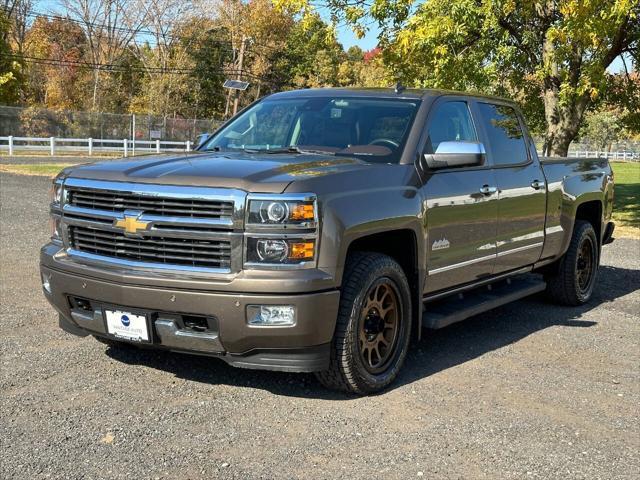
[[[516,111],[507,105],[492,103],[478,103],[478,109],[493,164],[517,165],[529,161],[524,132]]]

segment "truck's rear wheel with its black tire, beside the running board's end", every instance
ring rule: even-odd
[[[590,257],[585,258],[586,256]],[[585,271],[586,262],[590,270]],[[553,272],[547,273],[547,294],[561,305],[582,305],[591,299],[596,283],[600,248],[591,223],[576,220],[571,243]]]

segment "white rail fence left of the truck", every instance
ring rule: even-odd
[[[15,155],[17,151],[46,151],[54,156],[58,153],[116,153],[125,157],[136,152],[189,152],[192,143],[171,142],[168,140],[105,140],[94,138],[56,138],[56,137],[0,137],[0,152],[7,151]]]

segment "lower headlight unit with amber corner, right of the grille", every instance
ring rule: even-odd
[[[312,238],[247,238],[247,263],[262,265],[300,265],[315,259]]]

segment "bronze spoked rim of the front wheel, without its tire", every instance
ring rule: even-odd
[[[399,294],[386,277],[369,288],[360,314],[358,352],[369,373],[384,371],[393,358],[402,312]]]

